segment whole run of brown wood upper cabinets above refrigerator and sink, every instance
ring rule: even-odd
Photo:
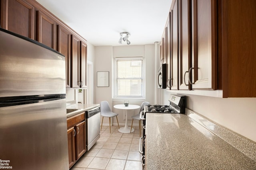
[[[65,56],[66,88],[86,88],[86,40],[36,0],[0,0],[0,26]]]

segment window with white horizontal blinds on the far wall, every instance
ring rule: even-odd
[[[116,97],[143,96],[143,60],[116,59]]]

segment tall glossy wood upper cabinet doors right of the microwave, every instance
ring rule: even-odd
[[[170,90],[218,88],[216,4],[216,0],[172,2]]]

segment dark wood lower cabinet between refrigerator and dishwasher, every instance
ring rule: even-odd
[[[68,164],[71,168],[86,152],[85,112],[67,119],[68,126]]]

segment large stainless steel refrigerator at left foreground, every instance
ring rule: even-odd
[[[0,28],[0,168],[68,170],[63,55]]]

